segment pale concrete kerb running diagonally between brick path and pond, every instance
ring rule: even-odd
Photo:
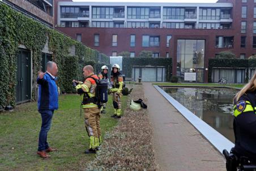
[[[223,149],[230,151],[231,148],[234,147],[234,144],[230,140],[195,116],[195,114],[186,109],[180,102],[173,99],[172,96],[168,95],[168,93],[159,86],[153,85],[153,87],[155,87],[157,91],[159,91],[161,95],[163,95],[165,99],[167,99],[220,153],[222,153]]]

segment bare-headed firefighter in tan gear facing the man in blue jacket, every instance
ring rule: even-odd
[[[96,153],[101,144],[100,131],[100,109],[95,102],[96,80],[99,79],[93,72],[93,67],[87,65],[83,68],[83,75],[86,78],[84,82],[78,82],[75,88],[76,91],[82,95],[82,108],[84,109],[84,119],[86,123],[86,130],[89,136],[89,149],[85,153]]]

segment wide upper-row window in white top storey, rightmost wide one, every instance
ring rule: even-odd
[[[199,20],[219,20],[220,8],[199,8]]]

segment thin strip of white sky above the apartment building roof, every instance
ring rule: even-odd
[[[156,2],[156,0],[72,0],[74,2]],[[215,3],[217,0],[157,0],[157,2]]]

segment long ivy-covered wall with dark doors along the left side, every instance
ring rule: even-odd
[[[82,65],[87,65],[88,61],[93,64],[99,61],[109,63],[106,55],[0,3],[0,106],[15,106],[16,55],[19,44],[32,52],[32,100],[36,99],[36,77],[41,67],[41,51],[46,44],[46,37],[49,37],[48,46],[53,53],[53,61],[58,65],[58,86],[61,91],[71,92],[70,87],[66,86],[72,86],[67,83],[67,71],[79,78],[82,75]],[[71,46],[75,46],[75,57],[69,56]],[[67,67],[70,69],[67,70]]]

